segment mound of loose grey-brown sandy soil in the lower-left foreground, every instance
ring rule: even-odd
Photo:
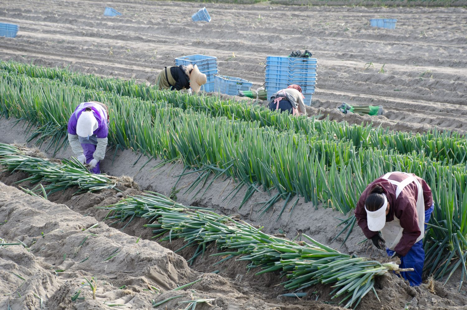
[[[181,256],[156,242],[129,236],[66,205],[24,194],[1,182],[0,218],[4,222],[2,238],[28,246],[0,249],[2,309],[85,310],[115,305],[118,309],[153,309],[152,300],[172,296],[179,297],[159,309],[178,309],[183,305],[180,301],[197,299],[210,300],[197,306],[201,310],[310,309],[285,305],[274,301],[275,297],[244,294],[219,274],[190,269]],[[94,283],[92,277],[96,279],[95,299],[89,286],[81,288],[85,279]],[[197,279],[201,281],[186,290],[170,291]],[[79,288],[79,297],[84,299],[72,301]]]

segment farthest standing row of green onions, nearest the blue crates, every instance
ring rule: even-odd
[[[294,130],[318,139],[351,141],[358,148],[395,150],[400,154],[416,151],[434,160],[452,160],[462,163],[467,154],[467,138],[458,133],[433,130],[424,134],[395,132],[382,128],[372,129],[371,124],[349,125],[328,120],[310,121],[307,117],[293,117],[271,112],[265,108],[248,105],[247,102],[221,101],[216,97],[191,96],[176,92],[160,92],[154,86],[136,83],[134,80],[101,78],[95,75],[70,72],[66,69],[45,68],[16,62],[0,62],[0,69],[25,74],[35,78],[57,79],[87,89],[103,90],[120,96],[141,98],[144,101],[164,101],[173,107],[203,111],[212,116],[229,119],[258,121],[262,127],[274,127],[279,131]]]

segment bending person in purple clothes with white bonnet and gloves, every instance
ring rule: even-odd
[[[68,121],[68,142],[77,159],[89,165],[92,173],[100,173],[108,135],[108,109],[98,101],[81,103]]]

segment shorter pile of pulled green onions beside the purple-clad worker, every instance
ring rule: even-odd
[[[25,150],[24,148],[21,148]],[[28,150],[28,149],[26,149]],[[28,151],[28,153],[31,153]],[[31,176],[16,183],[29,181],[32,184],[47,182],[43,188],[52,194],[69,187],[78,186],[79,190],[95,192],[114,188],[119,181],[128,184],[132,180],[123,180],[104,174],[94,174],[76,159],[43,159],[24,155],[23,151],[9,144],[0,143],[0,165],[7,171],[23,171]],[[131,185],[131,184],[129,184]],[[134,184],[133,184],[134,185]],[[42,188],[41,188],[42,189]]]

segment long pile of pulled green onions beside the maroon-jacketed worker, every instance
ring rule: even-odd
[[[192,210],[156,193],[127,196],[117,204],[102,207],[114,212],[113,218],[123,221],[128,216],[143,216],[159,223],[145,225],[154,228],[162,240],[184,238],[182,248],[198,245],[192,262],[203,255],[207,246],[217,245],[226,251],[213,256],[233,257],[250,261],[248,268],[261,268],[257,274],[281,271],[288,281],[284,288],[294,292],[323,283],[332,284],[334,298],[343,296],[338,302],[344,307],[356,307],[361,298],[374,289],[375,276],[399,270],[397,265],[382,264],[340,253],[312,238],[302,235],[308,242],[291,241],[263,233],[248,223],[235,220],[232,216],[221,216],[209,210]]]

